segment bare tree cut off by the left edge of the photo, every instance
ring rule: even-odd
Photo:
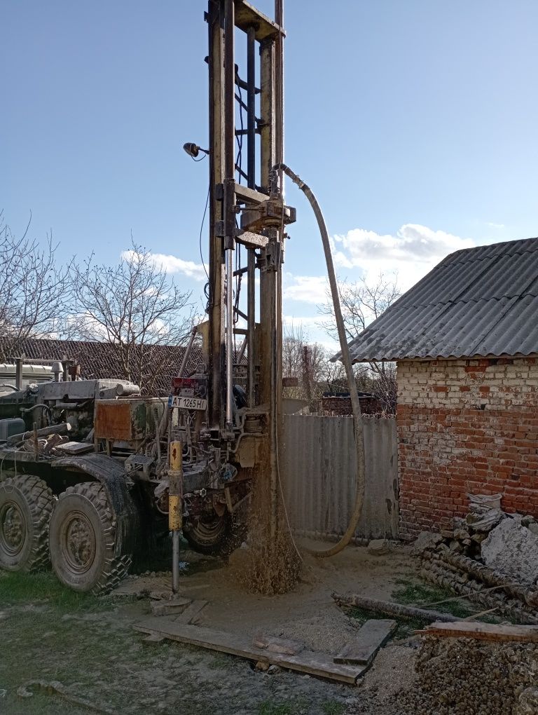
[[[69,267],[56,264],[52,234],[41,246],[26,230],[16,237],[0,212],[0,359],[19,355],[27,337],[51,337],[68,300]]]

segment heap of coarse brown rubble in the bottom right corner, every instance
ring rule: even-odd
[[[427,636],[395,715],[527,715],[538,710],[538,646]]]

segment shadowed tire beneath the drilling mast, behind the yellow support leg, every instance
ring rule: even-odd
[[[194,551],[206,556],[228,556],[243,541],[246,528],[234,523],[229,512],[203,516],[196,523],[186,523],[183,536]]]

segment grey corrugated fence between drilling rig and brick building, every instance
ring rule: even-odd
[[[364,416],[362,423],[366,495],[355,538],[398,538],[396,420]],[[341,536],[355,497],[353,418],[285,415],[280,468],[294,531]]]

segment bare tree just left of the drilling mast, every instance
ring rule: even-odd
[[[108,342],[121,376],[151,394],[161,375],[179,363],[174,350],[158,346],[184,344],[192,325],[185,312],[190,292],[182,292],[151,252],[135,243],[114,266],[96,264],[93,254],[82,266],[74,263],[71,281],[69,337]]]

